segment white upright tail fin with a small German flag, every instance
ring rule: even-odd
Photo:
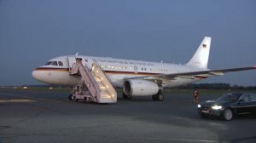
[[[207,69],[211,40],[212,37],[205,37],[192,59],[186,65]]]

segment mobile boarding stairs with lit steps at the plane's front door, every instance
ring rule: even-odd
[[[96,103],[115,103],[117,93],[101,66],[94,62],[89,68],[83,65],[81,58],[70,69],[73,76],[81,76],[82,84],[74,86],[72,99],[93,101]]]

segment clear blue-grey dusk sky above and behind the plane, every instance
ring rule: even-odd
[[[0,0],[0,86],[79,54],[185,64],[212,37],[210,69],[256,65],[255,0]],[[256,86],[256,70],[201,83]]]

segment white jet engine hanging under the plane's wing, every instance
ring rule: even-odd
[[[157,83],[147,80],[128,79],[125,80],[123,89],[126,95],[147,96],[157,94],[160,87]]]

